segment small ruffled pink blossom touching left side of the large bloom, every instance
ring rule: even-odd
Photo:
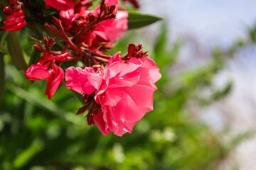
[[[95,79],[97,84],[90,84],[89,79]],[[95,89],[99,89],[102,82],[102,76],[95,73],[92,67],[69,67],[65,71],[66,86],[68,89],[78,92],[79,94],[92,94]]]

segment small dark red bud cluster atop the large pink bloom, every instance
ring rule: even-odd
[[[129,44],[127,49],[128,49],[128,53],[127,55],[124,56],[124,58],[131,58],[131,57],[137,57],[137,58],[141,58],[141,57],[147,57],[147,52],[144,52],[142,50],[142,45],[134,45],[133,43]]]

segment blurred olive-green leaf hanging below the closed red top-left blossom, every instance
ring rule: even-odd
[[[7,45],[9,55],[11,57],[11,61],[13,62],[14,66],[19,70],[24,70],[28,68],[26,61],[23,56],[21,44],[18,41],[18,35],[16,32],[10,32],[7,35]]]

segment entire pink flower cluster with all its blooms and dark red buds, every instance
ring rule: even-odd
[[[11,7],[7,6],[4,11],[10,16],[2,28],[20,30],[26,24],[22,3],[9,2]],[[81,94],[83,106],[77,115],[87,113],[89,125],[97,125],[103,135],[114,132],[122,136],[132,132],[145,113],[153,110],[155,83],[161,74],[142,45],[131,43],[123,57],[121,52],[113,56],[105,54],[127,30],[128,12],[119,10],[118,0],[102,0],[92,10],[89,10],[90,0],[45,2],[46,8],[55,8],[59,17],[52,16],[44,26],[63,42],[63,47],[53,50],[55,38],[46,36],[43,36],[44,44],[35,42],[33,46],[42,55],[26,69],[26,78],[48,79],[45,94],[49,99],[65,78],[65,86]],[[139,7],[137,1],[129,2]],[[29,4],[26,6],[29,8]],[[64,62],[73,66],[64,67]]]

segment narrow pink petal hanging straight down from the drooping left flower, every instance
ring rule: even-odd
[[[53,74],[47,81],[47,87],[45,92],[45,95],[47,95],[49,99],[53,97],[53,94],[55,94],[55,91],[58,89],[58,87],[61,86],[64,79],[64,72],[61,67],[53,64],[53,70]]]

